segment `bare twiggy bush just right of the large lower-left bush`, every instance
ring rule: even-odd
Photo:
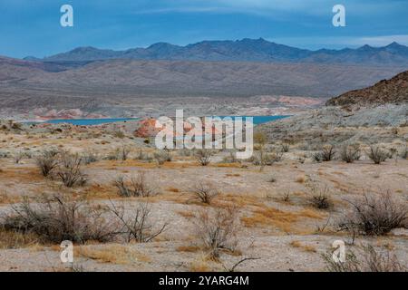
[[[165,223],[160,229],[153,230],[151,223],[151,207],[147,203],[141,203],[138,208],[126,215],[124,206],[117,207],[112,202],[112,213],[121,221],[119,232],[126,242],[136,241],[138,243],[150,242],[154,237],[158,237],[168,226]]]

